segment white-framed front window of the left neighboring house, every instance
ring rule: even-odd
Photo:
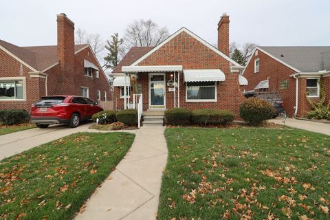
[[[23,100],[23,80],[1,80],[0,100]]]

